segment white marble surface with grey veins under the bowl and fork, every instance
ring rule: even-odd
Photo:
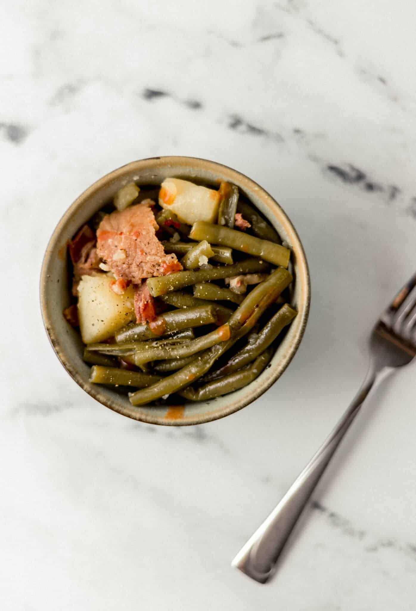
[[[368,329],[416,267],[415,18],[392,0],[1,4],[1,609],[415,609],[416,364],[368,401],[273,582],[230,567],[353,397]],[[85,395],[37,296],[71,201],[169,154],[267,188],[313,290],[278,384],[182,429]]]

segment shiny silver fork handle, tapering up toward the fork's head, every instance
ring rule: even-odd
[[[265,584],[271,577],[293,527],[377,377],[378,374],[371,366],[359,392],[332,433],[290,486],[278,506],[238,552],[232,566],[260,584]]]

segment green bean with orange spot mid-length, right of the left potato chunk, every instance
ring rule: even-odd
[[[170,276],[173,276],[173,274],[170,274]],[[182,308],[173,310],[172,312],[165,312],[157,317],[157,324],[152,327],[154,331],[146,324],[128,324],[120,331],[117,331],[115,338],[117,342],[156,339],[160,337],[160,335],[165,335],[171,331],[180,331],[188,327],[199,327],[203,324],[216,323],[217,321],[217,308],[212,304],[202,304],[192,308]]]

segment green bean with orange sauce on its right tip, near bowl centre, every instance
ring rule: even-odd
[[[201,335],[191,342],[181,343],[179,345],[145,345],[135,350],[134,362],[136,365],[149,363],[152,360],[176,359],[178,357],[192,356],[206,350],[211,346],[226,342],[229,340],[230,330],[228,324],[223,324],[215,331],[211,331],[206,335]],[[156,344],[156,342],[154,342]]]

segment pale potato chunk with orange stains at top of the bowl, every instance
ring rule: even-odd
[[[192,225],[195,221],[215,223],[218,218],[220,194],[181,178],[165,178],[159,191],[159,205],[171,210],[179,221]]]

